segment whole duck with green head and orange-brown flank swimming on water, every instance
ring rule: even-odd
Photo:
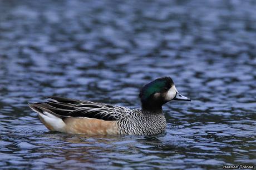
[[[139,93],[141,108],[130,109],[82,99],[47,97],[47,102],[28,103],[50,131],[88,135],[155,135],[164,133],[163,104],[191,101],[181,95],[170,77],[157,78]]]

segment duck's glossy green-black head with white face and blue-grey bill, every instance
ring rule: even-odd
[[[163,104],[172,100],[191,101],[181,95],[170,77],[157,78],[142,87],[139,95],[142,109],[153,111],[161,110]]]

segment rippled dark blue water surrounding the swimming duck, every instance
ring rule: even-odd
[[[255,1],[0,1],[1,169],[256,165]],[[160,136],[48,132],[44,96],[131,108],[171,76]]]

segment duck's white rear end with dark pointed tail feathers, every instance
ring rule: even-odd
[[[39,118],[43,124],[50,131],[65,132],[66,123],[60,116],[44,107],[45,103],[28,103],[28,106],[35,112],[38,113]]]

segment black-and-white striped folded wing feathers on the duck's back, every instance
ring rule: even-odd
[[[52,100],[45,103],[35,103],[33,107],[43,111],[50,111],[58,117],[87,117],[116,121],[131,112],[126,107],[112,106],[110,104],[90,102],[72,98],[48,97]]]

